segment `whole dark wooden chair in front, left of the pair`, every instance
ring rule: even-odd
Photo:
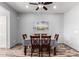
[[[39,56],[40,56],[40,36],[30,36],[31,38],[31,57],[33,55],[33,52],[35,49],[39,50]]]

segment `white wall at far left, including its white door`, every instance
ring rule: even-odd
[[[8,10],[0,6],[0,17],[4,20],[4,21],[1,21],[0,19],[1,21],[0,22],[0,48],[10,47],[10,37],[8,33],[9,24],[10,24],[9,14],[10,12]]]

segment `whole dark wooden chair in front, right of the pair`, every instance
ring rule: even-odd
[[[50,48],[51,48],[50,44],[51,44],[51,36],[41,36],[41,48],[40,48],[40,50],[42,52],[41,53],[42,56],[43,56],[43,51],[45,51],[43,49],[46,49],[46,52],[48,52],[49,56],[50,56]]]

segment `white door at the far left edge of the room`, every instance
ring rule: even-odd
[[[6,16],[0,16],[0,48],[6,48]]]

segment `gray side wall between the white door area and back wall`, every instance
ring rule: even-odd
[[[18,43],[18,37],[17,37],[17,13],[16,11],[11,8],[10,6],[8,6],[6,3],[0,2],[0,5],[3,6],[4,8],[6,8],[10,14],[10,24],[9,24],[9,32],[10,33],[10,47],[12,47],[13,45]]]

